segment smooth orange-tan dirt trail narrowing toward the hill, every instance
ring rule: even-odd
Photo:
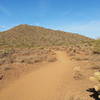
[[[3,89],[0,100],[64,100],[73,65],[66,52],[57,51],[56,56],[57,62],[45,64]]]

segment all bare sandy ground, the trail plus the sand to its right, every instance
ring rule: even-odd
[[[0,91],[0,100],[70,100],[72,97],[91,100],[86,92],[91,87],[88,77],[73,78],[78,63],[64,51],[55,53],[56,62],[40,64],[43,67],[13,81]]]

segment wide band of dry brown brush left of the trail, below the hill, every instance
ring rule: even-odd
[[[12,63],[34,64],[56,61],[55,53],[48,48],[2,49],[0,65]]]

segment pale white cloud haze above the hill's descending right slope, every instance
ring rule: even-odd
[[[73,24],[68,27],[64,27],[63,30],[74,33],[80,33],[92,38],[100,37],[100,21],[90,21],[83,24]]]

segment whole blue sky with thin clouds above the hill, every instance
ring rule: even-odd
[[[0,0],[0,31],[31,24],[100,37],[100,0]]]

